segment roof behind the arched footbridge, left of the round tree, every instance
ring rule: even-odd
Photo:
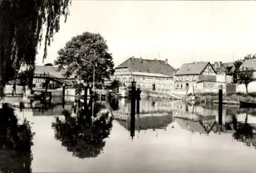
[[[54,67],[54,66],[40,66],[40,65],[35,66],[35,73],[39,73],[39,74],[46,73],[56,78],[65,78],[63,76],[65,72],[66,72],[66,69],[61,69],[60,71],[57,71],[57,67]],[[70,78],[73,78],[73,77],[71,76]]]

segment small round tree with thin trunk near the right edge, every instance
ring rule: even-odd
[[[248,85],[250,82],[255,81],[253,70],[251,69],[245,69],[245,70],[239,70],[237,73],[237,83],[238,84],[245,84],[246,87],[246,94],[248,93]]]

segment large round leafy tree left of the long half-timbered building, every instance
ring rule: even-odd
[[[58,51],[55,61],[59,70],[67,67],[66,77],[74,74],[75,78],[86,82],[93,81],[92,64],[95,66],[95,82],[102,82],[104,78],[110,79],[114,73],[113,58],[108,53],[106,41],[100,34],[90,32],[84,32],[68,41]]]

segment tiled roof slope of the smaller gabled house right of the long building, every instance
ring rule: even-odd
[[[183,64],[175,75],[199,75],[209,62],[195,62]]]

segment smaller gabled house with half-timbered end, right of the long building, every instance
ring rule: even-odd
[[[216,82],[217,72],[210,62],[194,62],[183,64],[175,73],[175,92],[186,93],[196,87],[198,82]],[[193,91],[194,92],[194,91]]]

